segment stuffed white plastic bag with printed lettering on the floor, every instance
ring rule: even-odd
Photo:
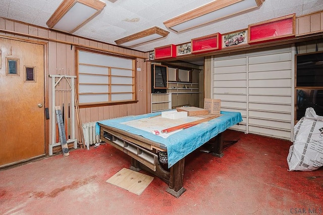
[[[323,117],[313,108],[294,126],[294,144],[289,148],[289,171],[313,171],[323,166]]]

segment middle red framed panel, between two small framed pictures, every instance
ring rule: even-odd
[[[215,33],[191,40],[192,53],[221,50],[221,34]]]

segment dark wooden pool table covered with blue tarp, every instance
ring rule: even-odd
[[[221,116],[187,129],[168,134],[161,130],[199,117],[183,121],[164,119],[160,113],[128,116],[97,122],[100,139],[131,157],[131,170],[152,173],[169,185],[167,192],[179,197],[183,187],[185,156],[207,143],[214,156],[223,156],[223,132],[242,121],[238,112],[221,112]],[[185,145],[185,147],[183,147]]]

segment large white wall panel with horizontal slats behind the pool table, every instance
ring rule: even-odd
[[[232,129],[292,140],[294,55],[280,46],[213,58],[212,98],[243,118]]]

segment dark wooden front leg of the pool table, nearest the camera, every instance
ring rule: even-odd
[[[184,165],[185,157],[173,165],[170,169],[170,183],[169,188],[167,188],[166,191],[176,198],[180,197],[186,191],[186,189],[183,187]]]

